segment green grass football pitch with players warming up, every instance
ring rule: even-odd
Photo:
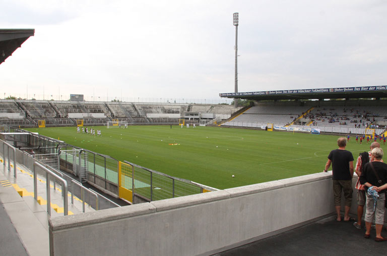
[[[321,172],[339,137],[178,125],[93,129],[102,136],[77,133],[76,127],[26,130],[219,189]],[[369,144],[356,144],[352,136],[347,149],[356,160]]]

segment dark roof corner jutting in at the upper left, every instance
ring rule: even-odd
[[[35,29],[0,29],[0,64],[34,34]]]

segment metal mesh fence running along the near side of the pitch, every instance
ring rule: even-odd
[[[2,129],[5,131],[8,130],[9,132],[25,132],[20,129],[12,129],[9,126],[4,126]],[[78,173],[82,170],[87,170],[89,174],[88,180],[92,181],[94,177],[94,183],[103,186],[103,183],[101,184],[102,181],[104,182],[105,188],[107,187],[107,183],[114,184],[118,187],[118,178],[120,178],[122,187],[132,189],[136,195],[148,201],[182,197],[203,193],[203,191],[216,190],[126,161],[127,164],[134,166],[134,173],[131,173],[132,170],[123,170],[124,177],[118,177],[118,160],[40,135],[31,134],[29,137],[29,146],[38,149],[35,151],[36,158],[39,158],[39,155],[44,155],[41,157],[47,158],[44,160],[53,168],[57,168],[57,154],[60,152],[60,170],[73,171],[76,175],[82,174]],[[80,162],[80,152],[83,154],[81,156],[81,166],[77,168]],[[93,175],[90,177],[90,174]],[[132,179],[132,174],[134,179]],[[85,176],[85,180],[87,179],[86,177],[87,175]],[[99,178],[98,182],[96,178]]]

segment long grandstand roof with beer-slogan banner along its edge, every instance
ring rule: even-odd
[[[359,86],[345,88],[299,89],[263,92],[220,93],[223,98],[247,100],[290,100],[290,99],[350,99],[350,98],[385,98],[387,86]]]

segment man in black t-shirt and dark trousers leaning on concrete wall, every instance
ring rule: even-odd
[[[355,221],[349,217],[349,210],[352,203],[352,176],[353,176],[353,156],[348,150],[347,139],[340,137],[337,140],[339,149],[332,150],[329,153],[327,164],[324,171],[327,172],[332,163],[332,180],[333,180],[333,194],[335,200],[335,208],[337,214],[337,221],[341,221],[341,193],[344,191],[345,198],[345,213],[344,221]]]

